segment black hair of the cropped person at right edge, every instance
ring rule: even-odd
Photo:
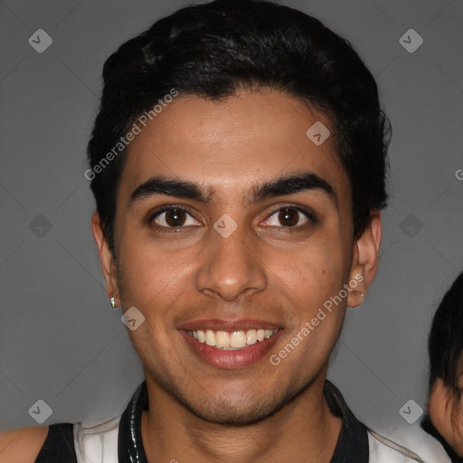
[[[432,320],[428,340],[430,392],[440,378],[452,394],[452,421],[458,419],[458,363],[463,355],[463,272],[453,282]]]

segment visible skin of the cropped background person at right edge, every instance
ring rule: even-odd
[[[430,392],[428,408],[430,420],[439,434],[449,443],[459,457],[463,458],[463,355],[458,365],[459,401],[453,400],[453,393],[438,378]],[[454,405],[455,404],[455,405]],[[452,420],[453,407],[456,407],[456,422]]]

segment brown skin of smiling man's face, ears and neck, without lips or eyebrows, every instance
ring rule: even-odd
[[[128,335],[146,375],[150,410],[142,439],[150,463],[328,462],[341,430],[323,395],[329,355],[345,307],[357,307],[372,283],[382,238],[373,213],[354,241],[351,191],[333,137],[316,146],[306,131],[329,118],[277,91],[241,91],[222,102],[177,97],[131,142],[118,187],[116,260],[98,213],[92,231],[108,296],[145,322]],[[333,188],[251,203],[256,184],[312,172]],[[153,175],[198,184],[209,203],[151,195],[129,203]],[[188,209],[184,228],[168,230],[166,213]],[[296,204],[284,226],[277,207]],[[222,214],[238,228],[228,238],[213,229]],[[172,218],[172,217],[171,217]],[[156,230],[155,225],[161,228]],[[291,230],[289,230],[291,229]],[[269,356],[290,342],[343,285],[363,280],[278,366]],[[177,327],[198,318],[254,318],[283,331],[257,362],[227,370],[196,356]]]

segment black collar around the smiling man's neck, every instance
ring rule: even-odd
[[[368,434],[365,425],[354,417],[333,383],[326,380],[324,389],[330,411],[343,420],[341,433],[330,463],[367,463]],[[122,413],[118,427],[118,460],[124,463],[147,463],[141,438],[141,413],[148,410],[146,381],[134,393]]]

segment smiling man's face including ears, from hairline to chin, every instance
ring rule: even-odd
[[[277,92],[178,97],[129,147],[116,262],[94,214],[109,295],[145,317],[128,334],[148,390],[204,420],[261,420],[323,382],[373,279],[379,216],[355,242],[333,137],[306,135],[317,121],[334,133]]]

